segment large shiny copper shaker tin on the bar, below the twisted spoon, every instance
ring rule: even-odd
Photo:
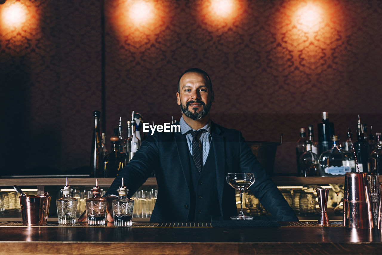
[[[367,173],[345,174],[343,226],[356,229],[373,228]]]

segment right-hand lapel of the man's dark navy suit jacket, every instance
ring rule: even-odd
[[[211,122],[211,145],[214,146],[215,171],[216,171],[216,186],[219,195],[220,213],[222,211],[223,187],[225,182],[225,143],[224,137],[221,135],[222,130]]]

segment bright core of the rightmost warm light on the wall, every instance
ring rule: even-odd
[[[314,32],[319,29],[323,20],[322,9],[312,3],[300,8],[296,13],[297,26],[305,32]]]

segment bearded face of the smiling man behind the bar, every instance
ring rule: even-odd
[[[176,93],[183,114],[193,120],[206,116],[214,99],[207,77],[200,73],[185,73],[180,79],[180,92]]]

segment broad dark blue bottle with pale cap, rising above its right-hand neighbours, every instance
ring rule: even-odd
[[[318,128],[318,153],[332,148],[331,137],[334,135],[334,124],[329,122],[329,113],[322,112],[322,123],[317,124]]]

